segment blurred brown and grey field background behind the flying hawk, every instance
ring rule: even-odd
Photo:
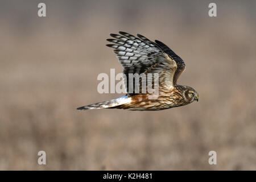
[[[210,2],[1,1],[0,169],[255,170],[256,2],[214,1],[216,18]],[[122,72],[105,46],[118,31],[172,48],[199,102],[77,111],[122,96],[97,92],[99,73]]]

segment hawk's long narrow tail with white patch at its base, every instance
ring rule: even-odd
[[[87,106],[78,107],[77,110],[88,110],[88,109],[106,109],[110,107],[119,106],[122,104],[127,104],[131,102],[131,98],[127,98],[127,96],[115,98],[112,100],[104,101],[104,102],[98,102],[96,104],[90,104]]]

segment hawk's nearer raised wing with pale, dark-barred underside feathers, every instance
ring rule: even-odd
[[[151,42],[142,35],[137,34],[137,38],[126,32],[119,32],[119,34],[121,35],[110,34],[115,39],[107,40],[114,44],[107,44],[106,46],[114,48],[114,53],[123,67],[126,78],[129,78],[129,73],[138,73],[138,75],[141,73],[146,75],[158,73],[159,87],[171,89],[174,86],[174,75],[177,68],[174,59],[164,52],[158,44]],[[131,92],[129,82],[124,80],[126,92],[132,96],[135,94],[134,86],[133,92]]]

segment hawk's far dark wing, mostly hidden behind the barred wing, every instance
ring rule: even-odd
[[[172,51],[166,44],[160,42],[159,40],[155,40],[155,43],[162,49],[163,52],[167,53],[173,60],[175,60],[177,64],[177,69],[174,74],[174,85],[177,84],[177,79],[180,77],[181,73],[185,70],[185,63],[183,59],[181,59],[174,51]]]

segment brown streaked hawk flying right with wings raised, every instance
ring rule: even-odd
[[[177,80],[185,69],[185,63],[166,44],[159,40],[151,42],[140,34],[135,37],[121,31],[119,35],[110,34],[110,36],[114,39],[107,39],[112,44],[106,46],[114,48],[114,53],[123,67],[123,74],[128,78],[129,73],[138,73],[138,75],[157,73],[159,95],[155,99],[150,99],[152,93],[131,92],[134,89],[130,89],[130,81],[124,81],[127,92],[125,96],[82,106],[77,110],[108,108],[151,111],[184,106],[199,100],[199,94],[195,89],[177,85]],[[141,82],[142,79],[139,84],[142,84]]]

